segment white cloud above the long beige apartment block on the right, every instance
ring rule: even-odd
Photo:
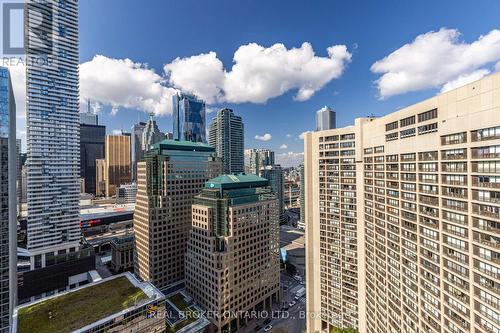
[[[442,87],[460,76],[471,76],[498,59],[500,30],[492,30],[468,44],[460,40],[458,30],[442,28],[417,36],[375,62],[371,71],[382,74],[375,83],[383,99]]]

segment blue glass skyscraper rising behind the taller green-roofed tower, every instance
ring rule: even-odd
[[[206,142],[205,102],[194,95],[172,97],[174,140]]]

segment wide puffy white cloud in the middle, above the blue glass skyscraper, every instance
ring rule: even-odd
[[[250,43],[236,50],[230,71],[215,52],[177,58],[164,70],[174,87],[208,103],[265,103],[290,90],[297,90],[294,99],[304,101],[339,78],[351,61],[345,45],[327,52],[328,57],[316,56],[309,43],[290,50],[280,43],[268,48]]]

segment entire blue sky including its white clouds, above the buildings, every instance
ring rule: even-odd
[[[80,95],[108,133],[171,96],[243,117],[246,148],[303,158],[327,105],[337,126],[382,116],[500,70],[500,2],[81,0]],[[20,117],[18,131],[25,121]]]

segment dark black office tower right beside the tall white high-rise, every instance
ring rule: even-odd
[[[80,113],[80,116],[83,115]],[[96,193],[96,160],[104,158],[106,126],[95,122],[80,123],[80,177],[83,178],[85,193]]]

